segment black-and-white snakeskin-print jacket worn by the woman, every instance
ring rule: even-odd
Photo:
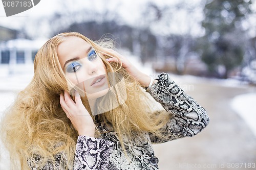
[[[99,138],[78,136],[74,165],[65,161],[65,154],[55,155],[56,169],[158,169],[158,158],[154,156],[152,143],[162,143],[186,136],[194,136],[209,122],[208,115],[193,98],[187,95],[168,75],[162,73],[158,82],[152,85],[150,94],[163,108],[172,114],[164,128],[161,139],[153,134],[134,134],[133,140],[123,139],[126,154],[123,152],[117,134],[111,125],[99,124],[102,133]],[[54,169],[49,161],[41,165],[39,159],[28,160],[31,169]]]

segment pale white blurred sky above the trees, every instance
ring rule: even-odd
[[[187,4],[188,6],[196,8],[193,13],[187,14],[185,10],[179,9],[178,11],[173,11],[172,16],[170,15],[169,28],[164,28],[161,25],[156,25],[152,29],[153,31],[157,31],[160,34],[168,34],[169,32],[178,33],[178,34],[189,34],[200,36],[203,35],[203,29],[200,26],[200,21],[203,19],[202,13],[202,1],[201,0],[94,0],[94,1],[85,1],[85,0],[65,0],[65,4],[63,4],[63,0],[41,0],[38,5],[29,9],[25,12],[16,14],[14,16],[6,17],[3,4],[0,4],[0,26],[5,26],[12,29],[20,29],[24,28],[29,30],[31,34],[33,30],[33,21],[37,21],[40,18],[47,18],[53,15],[54,13],[58,12],[61,14],[72,14],[78,10],[86,10],[86,9],[95,9],[95,11],[105,11],[108,9],[109,11],[115,11],[121,16],[124,20],[124,23],[129,25],[136,26],[138,22],[143,22],[141,20],[141,12],[145,7],[147,2],[156,3],[158,6],[163,7],[167,5],[175,5],[177,3],[180,4]],[[254,0],[253,0],[254,2]],[[253,4],[253,10],[256,11],[256,4]],[[168,16],[169,17],[169,16]],[[252,17],[250,19],[250,23],[247,23],[245,27],[251,28],[251,36],[255,36],[255,28],[256,28],[256,21]],[[168,19],[168,18],[167,18]],[[27,25],[24,26],[24,25]],[[47,25],[42,26],[41,34],[42,36],[48,37],[48,34],[51,28]],[[35,32],[34,34],[38,34]]]

